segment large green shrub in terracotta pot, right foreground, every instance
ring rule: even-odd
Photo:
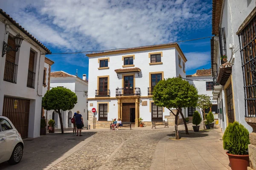
[[[223,148],[230,160],[232,170],[247,170],[249,164],[249,131],[238,122],[230,123],[222,137]]]

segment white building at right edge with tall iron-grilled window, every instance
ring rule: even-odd
[[[245,117],[255,117],[255,1],[213,0],[211,63],[214,95],[222,131]],[[253,31],[253,34],[249,32]],[[241,46],[239,43],[239,37]],[[240,52],[241,50],[241,52]]]

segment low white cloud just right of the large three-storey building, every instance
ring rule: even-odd
[[[207,65],[211,60],[211,53],[208,52],[189,52],[184,54],[188,61],[186,62],[186,70],[192,70]]]

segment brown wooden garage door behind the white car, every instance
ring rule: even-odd
[[[26,99],[4,97],[3,116],[8,117],[22,138],[27,138],[29,133],[29,104]]]

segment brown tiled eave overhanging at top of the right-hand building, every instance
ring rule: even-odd
[[[218,35],[223,0],[212,0],[212,35]]]

